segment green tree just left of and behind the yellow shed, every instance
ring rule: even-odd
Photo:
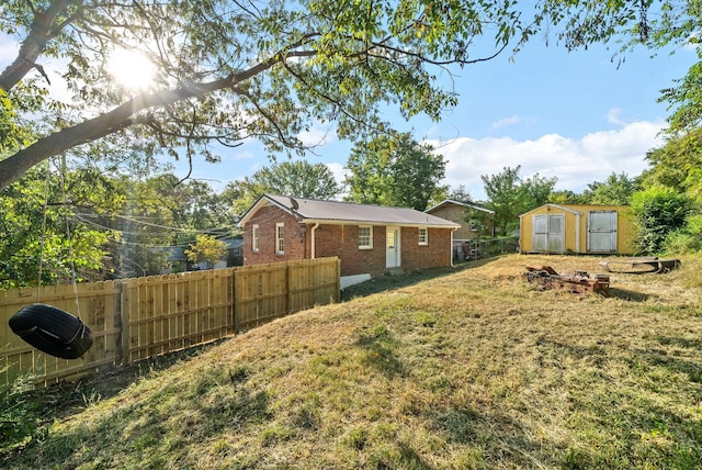
[[[522,179],[521,166],[503,167],[497,175],[483,175],[485,206],[495,211],[495,227],[498,235],[507,235],[519,226],[518,216],[548,202],[557,178],[544,178],[534,175]]]

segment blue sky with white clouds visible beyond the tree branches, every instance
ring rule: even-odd
[[[0,37],[0,67],[14,57],[16,43]],[[513,60],[506,53],[492,60],[454,70],[460,103],[441,122],[418,116],[396,118],[396,128],[409,131],[444,156],[443,183],[464,186],[475,200],[485,198],[482,175],[521,166],[524,178],[556,177],[556,189],[580,192],[612,172],[633,177],[646,168],[645,154],[663,144],[659,131],[669,115],[657,103],[659,90],[682,78],[695,61],[693,51],[676,54],[637,48],[619,65],[604,46],[567,53],[537,38]],[[441,77],[448,82],[448,76]],[[310,163],[324,163],[343,179],[349,143],[333,136],[333,126],[316,126],[301,135],[307,143],[325,142]],[[193,178],[220,190],[270,165],[256,142],[226,149],[220,164],[194,160]],[[176,174],[184,177],[181,163]]]

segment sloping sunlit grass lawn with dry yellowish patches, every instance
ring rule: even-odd
[[[599,260],[384,277],[128,380],[27,394],[53,407],[0,467],[702,468],[702,261],[608,294],[521,277]]]

